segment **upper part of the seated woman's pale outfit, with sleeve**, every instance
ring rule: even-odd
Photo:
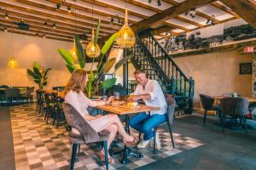
[[[105,104],[103,101],[92,101],[91,99],[88,99],[83,92],[78,94],[73,90],[67,92],[65,102],[69,103],[79,111],[80,115],[83,116],[85,120],[88,120],[88,117],[90,117],[89,112],[87,111],[88,106],[96,107],[96,105]]]

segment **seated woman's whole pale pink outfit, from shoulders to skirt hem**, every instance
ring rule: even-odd
[[[102,121],[105,122],[107,120],[104,120],[103,117],[90,116],[89,112],[87,111],[87,108],[88,106],[96,107],[96,105],[104,105],[105,102],[92,101],[91,99],[88,99],[83,92],[80,92],[78,94],[73,90],[70,90],[66,94],[65,102],[69,103],[70,105],[73,105],[73,107],[77,111],[79,111],[79,114],[84,117],[84,120],[88,122],[90,126],[96,130],[96,132],[100,132],[102,130],[101,128]],[[77,131],[77,130],[73,130],[73,131]],[[79,132],[74,132],[74,133],[79,133]]]

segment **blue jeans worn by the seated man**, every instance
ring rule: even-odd
[[[139,113],[137,116],[133,116],[129,125],[136,129],[138,132],[144,133],[144,140],[149,140],[154,137],[153,128],[157,127],[163,122],[166,122],[166,120],[166,114],[154,114],[150,116],[149,114],[143,112]]]

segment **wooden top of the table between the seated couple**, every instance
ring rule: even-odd
[[[148,111],[159,111],[159,107],[149,106],[149,105],[137,105],[137,107],[130,107],[125,105],[113,106],[113,105],[97,105],[97,109],[102,111],[112,112],[117,115],[127,115],[135,114],[139,112],[148,112]]]

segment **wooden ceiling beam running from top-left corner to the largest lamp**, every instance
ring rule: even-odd
[[[20,0],[15,0],[15,1],[20,1]],[[71,21],[73,23],[78,23],[78,24],[85,25],[85,26],[92,26],[92,23],[90,23],[90,22],[85,22],[85,21],[82,21],[82,20],[74,20],[74,19],[68,17],[68,15],[67,16],[61,16],[59,14],[51,14],[51,11],[49,11],[49,13],[46,13],[46,12],[36,10],[34,8],[26,8],[26,7],[19,6],[19,5],[14,5],[14,4],[8,3],[8,2],[4,2],[4,3],[0,2],[0,5],[3,5],[7,8],[16,8],[16,9],[19,9],[21,11],[26,11],[26,12],[32,13],[32,14],[43,15],[44,17],[48,17],[50,19],[66,20],[66,21]],[[96,23],[94,23],[93,26],[96,26]],[[107,30],[112,30],[112,31],[119,30],[118,28],[113,28],[111,26],[101,26],[101,27],[102,27],[102,29],[107,29]]]

